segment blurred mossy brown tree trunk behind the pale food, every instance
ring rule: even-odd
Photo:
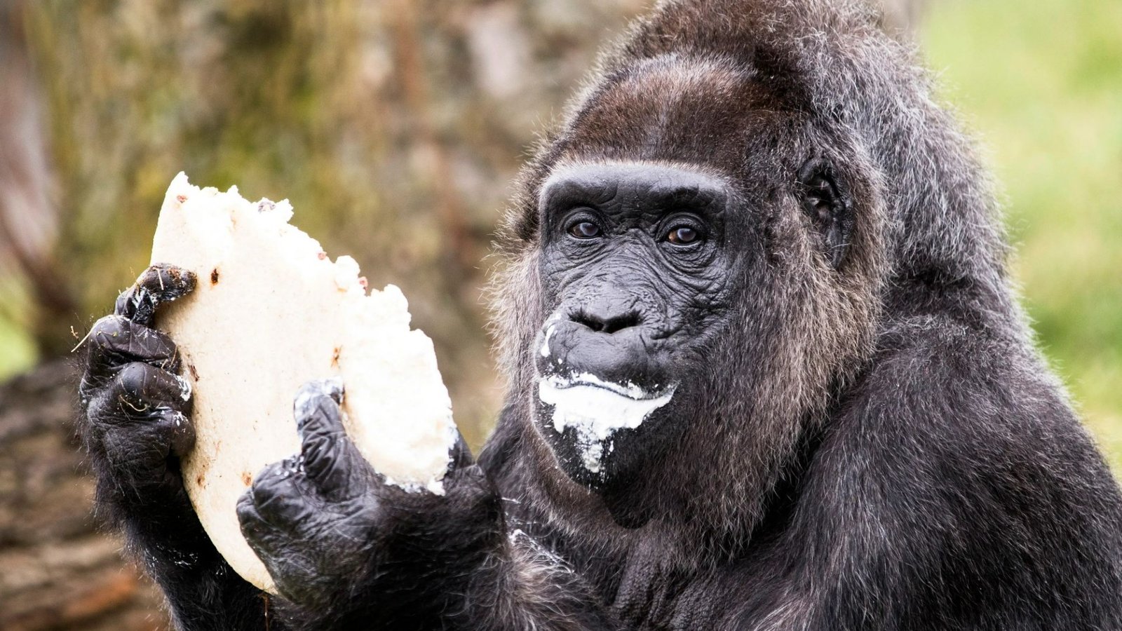
[[[534,129],[638,9],[620,0],[46,0],[26,31],[46,95],[73,346],[148,263],[164,191],[288,198],[294,222],[373,286],[405,289],[457,421],[481,442],[500,396],[481,287]],[[0,278],[2,280],[2,278]],[[7,304],[26,287],[0,285]],[[0,324],[0,372],[30,356]],[[26,328],[26,327],[25,327]],[[61,348],[54,340],[43,346]],[[25,344],[22,348],[26,348]],[[8,349],[11,349],[9,353]]]

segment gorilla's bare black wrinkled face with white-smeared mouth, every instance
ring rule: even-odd
[[[733,199],[720,177],[649,162],[571,164],[542,186],[536,422],[573,479],[626,477],[688,423],[705,333],[732,311]]]

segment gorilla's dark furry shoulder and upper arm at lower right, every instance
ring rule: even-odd
[[[923,316],[882,338],[774,574],[742,577],[737,624],[1122,628],[1118,488],[1038,359],[995,330]]]

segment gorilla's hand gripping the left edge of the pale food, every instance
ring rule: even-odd
[[[194,286],[192,273],[154,265],[88,337],[80,430],[99,478],[99,500],[118,519],[141,512],[148,520],[190,515],[193,521],[178,470],[178,457],[194,442],[191,390],[176,374],[175,344],[149,327],[162,302]]]

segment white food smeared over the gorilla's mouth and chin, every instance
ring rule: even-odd
[[[581,461],[599,473],[604,456],[614,448],[613,435],[635,429],[655,410],[670,402],[678,384],[649,391],[634,383],[614,383],[590,373],[564,377],[548,375],[537,381],[537,396],[553,406],[553,429],[573,428]]]

